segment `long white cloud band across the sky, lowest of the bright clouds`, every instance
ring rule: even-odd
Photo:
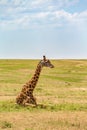
[[[19,14],[12,15],[9,19],[4,19],[1,21],[1,26],[19,26],[20,27],[32,27],[34,25],[39,26],[48,26],[51,25],[55,27],[58,26],[66,26],[66,25],[75,25],[75,26],[83,26],[84,23],[87,22],[87,11],[81,13],[68,13],[64,10],[54,11],[54,12],[37,12],[30,14]]]

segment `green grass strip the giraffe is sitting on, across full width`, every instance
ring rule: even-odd
[[[20,112],[20,111],[87,111],[87,104],[60,103],[60,104],[38,104],[37,107],[20,106],[13,101],[0,102],[0,112]]]

